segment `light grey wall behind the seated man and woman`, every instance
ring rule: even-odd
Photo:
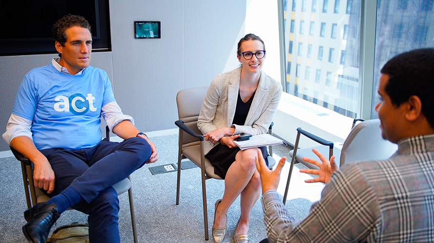
[[[109,8],[112,52],[94,53],[91,65],[109,73],[117,102],[141,131],[175,128],[176,93],[208,86],[217,74],[238,67],[237,43],[247,33],[264,40],[264,71],[280,79],[280,69],[273,71],[280,67],[277,1],[109,0]],[[161,21],[161,38],[134,39],[136,20]],[[4,88],[0,90],[0,133],[5,131],[22,76],[34,66],[46,65],[50,58],[0,58],[4,74],[0,75]],[[15,69],[17,60],[21,64]],[[0,151],[8,149],[0,139]]]

